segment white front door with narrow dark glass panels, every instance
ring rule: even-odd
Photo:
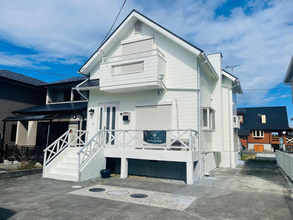
[[[118,109],[119,103],[101,103],[99,104],[98,109],[98,129],[103,130],[115,130],[118,128]],[[115,131],[111,132],[113,136],[115,136]],[[106,135],[106,143],[109,141],[109,133]],[[114,140],[111,142],[114,144]]]

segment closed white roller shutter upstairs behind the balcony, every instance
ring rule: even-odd
[[[151,49],[153,49],[153,38],[122,44],[122,55],[127,53],[136,53],[137,51],[151,50]],[[138,57],[149,56],[149,55],[152,55],[152,53],[153,53],[152,51],[139,53]],[[123,60],[133,59],[136,57],[137,57],[136,54],[132,54],[132,55],[122,56],[122,59]]]

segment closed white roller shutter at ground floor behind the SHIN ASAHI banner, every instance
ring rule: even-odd
[[[137,106],[136,129],[137,130],[164,130],[171,129],[172,105]],[[137,136],[137,140],[143,143],[143,134]],[[170,143],[171,134],[167,132],[167,144]]]

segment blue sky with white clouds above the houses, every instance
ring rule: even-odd
[[[99,47],[123,2],[1,1],[0,40],[69,67],[0,41],[0,69],[45,82],[66,77],[12,67],[79,76],[77,70]],[[286,106],[288,118],[293,117],[291,90],[283,83],[293,54],[293,1],[127,0],[112,30],[132,9],[206,54],[221,52],[223,69],[240,65],[233,70],[243,89],[238,107]],[[283,89],[246,90],[267,88]]]

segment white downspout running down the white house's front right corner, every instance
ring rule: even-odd
[[[205,59],[204,62],[200,63],[199,65],[197,65],[197,132],[198,132],[198,174],[199,174],[199,179],[202,178],[202,171],[201,171],[201,150],[200,150],[200,66],[204,65],[207,62],[207,59]]]

